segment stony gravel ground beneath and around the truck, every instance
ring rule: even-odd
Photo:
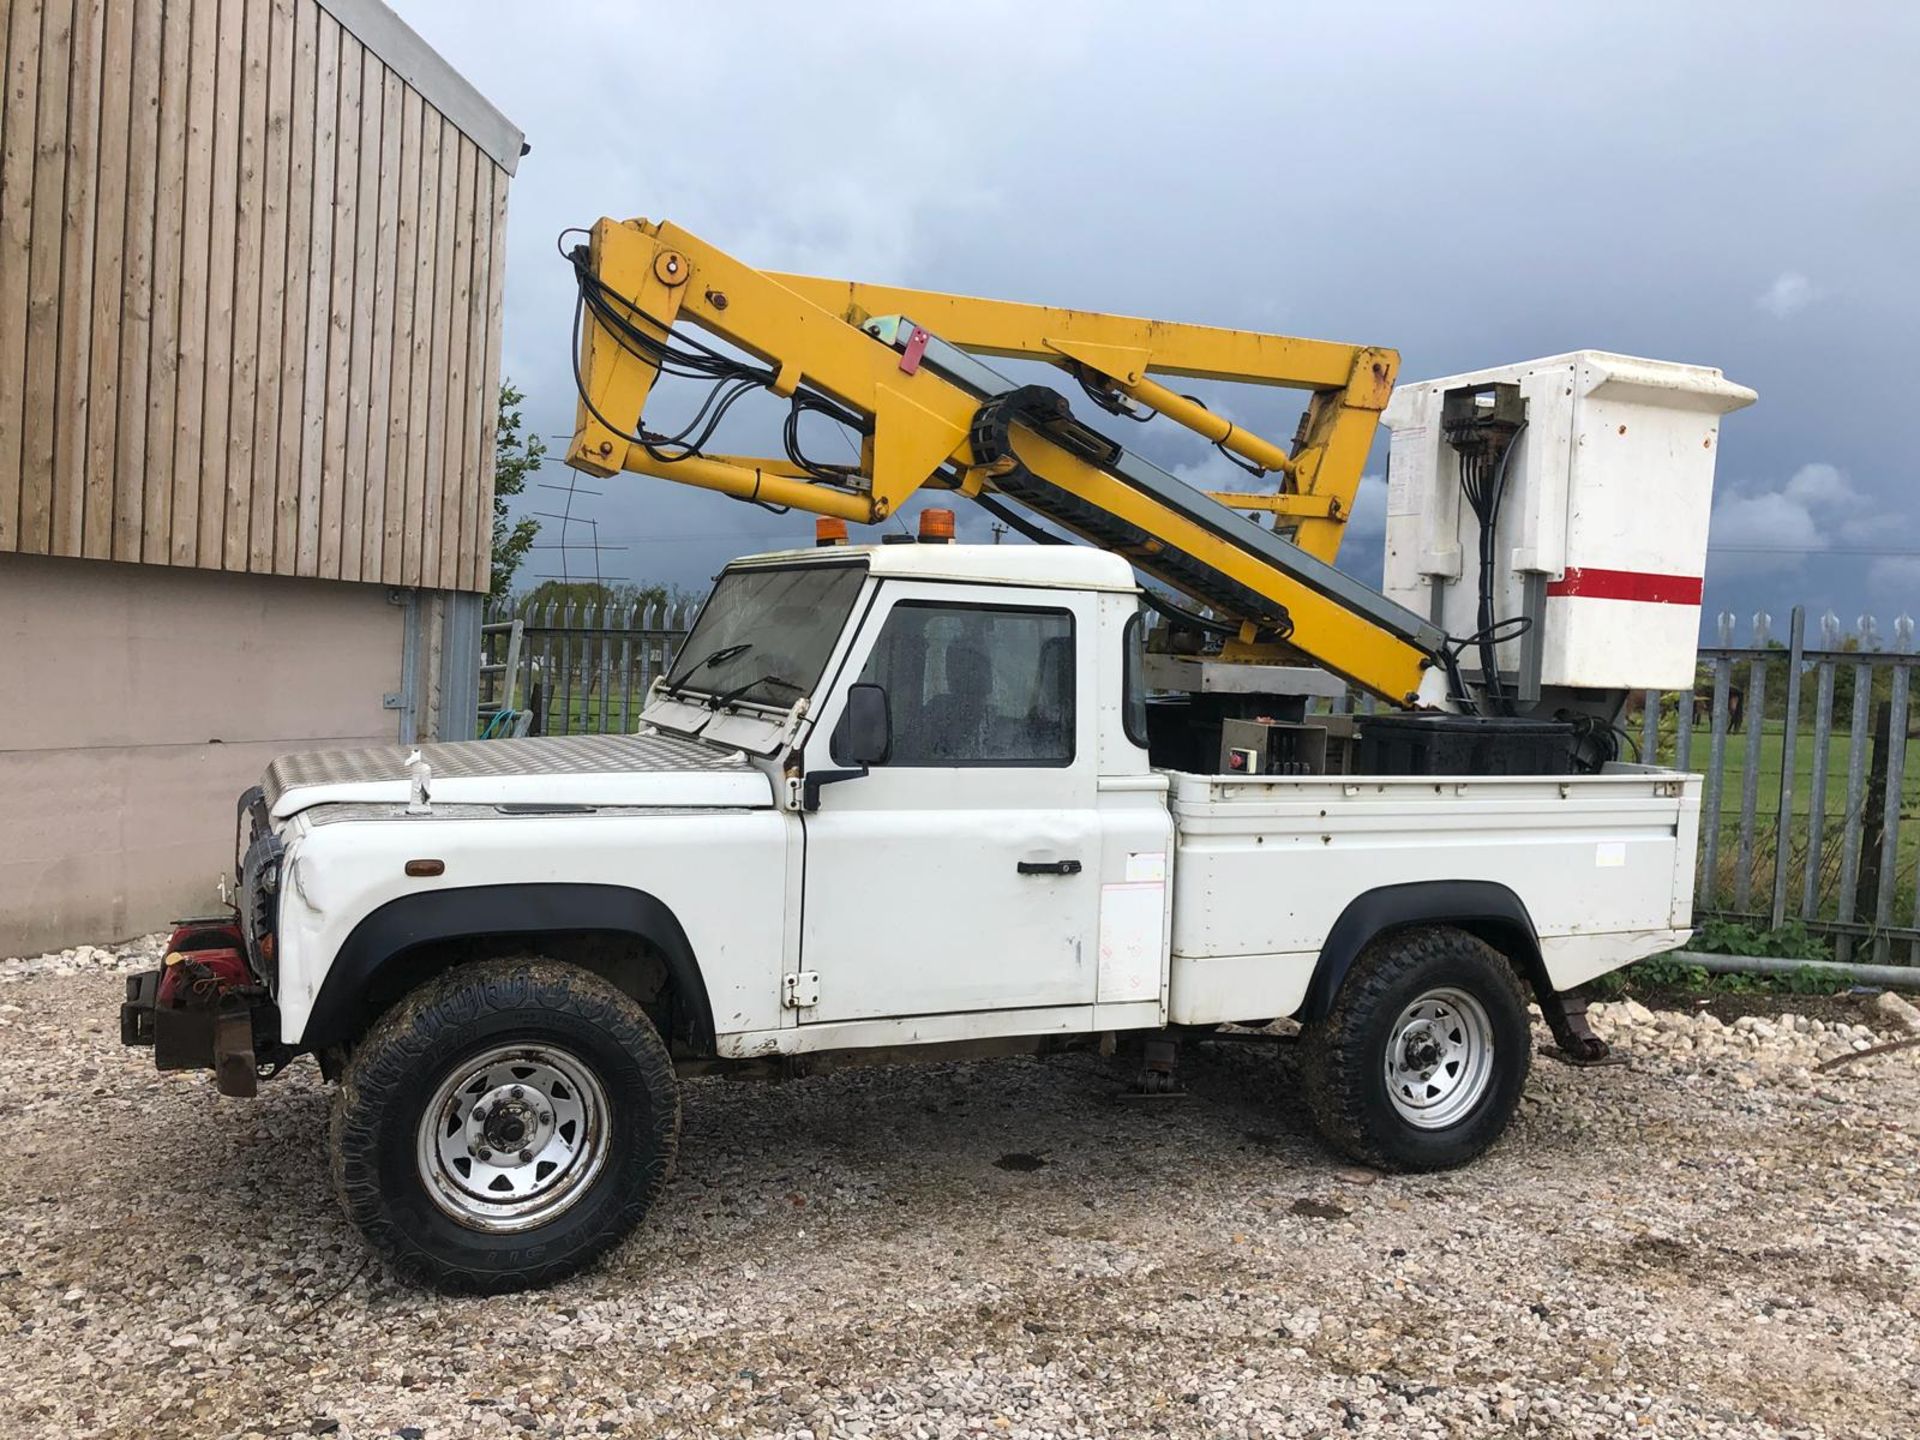
[[[119,1048],[156,950],[0,962],[6,1436],[1916,1430],[1920,1050],[1812,1069],[1897,1006],[1607,1006],[1630,1064],[1538,1062],[1405,1179],[1254,1046],[1139,1104],[1091,1056],[695,1081],[643,1235],[453,1302],[342,1219],[309,1064],[248,1102]]]

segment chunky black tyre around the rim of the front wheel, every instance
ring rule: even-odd
[[[430,1192],[422,1116],[463,1064],[518,1044],[555,1046],[588,1071],[605,1150],[549,1221],[492,1233]],[[342,1206],[399,1275],[501,1294],[572,1275],[645,1219],[680,1144],[680,1087],[653,1021],[612,983],[536,956],[486,960],[422,983],[372,1025],[342,1075],[330,1139]]]

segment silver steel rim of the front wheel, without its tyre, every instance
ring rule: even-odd
[[[586,1194],[607,1160],[607,1091],[557,1044],[497,1044],[453,1066],[420,1112],[426,1194],[474,1231],[530,1231]]]

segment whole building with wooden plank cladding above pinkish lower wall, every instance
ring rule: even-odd
[[[12,954],[204,906],[273,753],[470,728],[522,138],[380,0],[0,15]]]

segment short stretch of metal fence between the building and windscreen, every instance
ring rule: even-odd
[[[482,733],[632,732],[693,611],[664,601],[495,607],[480,636]]]

